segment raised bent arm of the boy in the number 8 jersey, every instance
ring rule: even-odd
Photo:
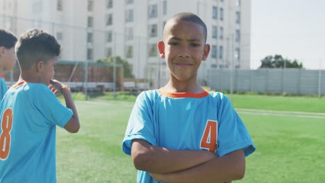
[[[51,85],[60,89],[61,94],[65,98],[65,105],[73,112],[72,117],[64,126],[65,130],[72,133],[78,132],[80,128],[78,112],[76,111],[76,105],[74,105],[74,101],[72,99],[72,94],[70,92],[70,89],[68,87],[63,87],[63,84],[58,80],[51,80]]]

